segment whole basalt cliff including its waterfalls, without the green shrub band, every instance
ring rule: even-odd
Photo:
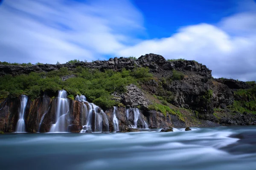
[[[75,71],[78,67],[102,72],[147,67],[152,77],[111,94],[119,103],[112,108],[100,108],[81,95],[70,99],[65,89],[55,94],[41,91],[35,99],[26,97],[26,102],[21,96],[7,96],[0,103],[0,131],[15,132],[21,125],[26,132],[126,132],[135,128],[256,125],[256,86],[212,78],[211,70],[195,61],[167,61],[160,55],[146,54],[138,59],[116,57],[73,64],[0,65],[0,77],[61,68]],[[60,79],[72,77],[76,75]]]

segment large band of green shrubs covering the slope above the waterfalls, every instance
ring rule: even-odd
[[[76,77],[61,81],[61,77],[71,74]],[[69,71],[63,67],[48,73],[32,72],[15,77],[6,75],[0,77],[0,99],[7,96],[16,97],[20,94],[26,94],[30,99],[35,99],[45,91],[56,94],[58,90],[64,89],[68,92],[69,99],[74,99],[77,94],[84,94],[88,101],[102,108],[111,108],[113,105],[119,105],[112,99],[111,94],[114,91],[124,92],[126,85],[137,84],[151,77],[148,68],[101,72],[83,67],[77,67],[75,71]]]

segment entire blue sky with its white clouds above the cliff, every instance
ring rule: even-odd
[[[214,77],[256,80],[253,0],[3,0],[0,61],[194,59]]]

